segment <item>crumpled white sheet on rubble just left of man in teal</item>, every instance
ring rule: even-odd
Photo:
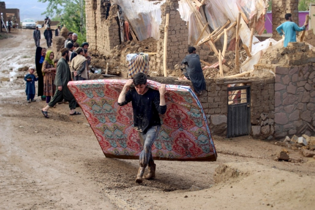
[[[269,46],[269,43],[272,42],[272,45]],[[253,44],[252,46],[252,57],[247,59],[242,63],[241,70],[242,72],[247,72],[250,70],[254,70],[254,65],[259,62],[261,56],[265,52],[271,52],[273,49],[279,48],[283,46],[283,39],[279,40],[278,42],[272,38],[266,39],[263,42],[258,42]]]

